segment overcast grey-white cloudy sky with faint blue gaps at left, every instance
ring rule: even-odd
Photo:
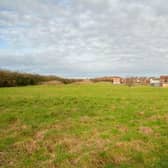
[[[168,74],[167,0],[0,0],[0,68]]]

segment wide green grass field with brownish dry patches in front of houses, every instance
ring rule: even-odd
[[[168,168],[168,89],[0,88],[2,168]]]

